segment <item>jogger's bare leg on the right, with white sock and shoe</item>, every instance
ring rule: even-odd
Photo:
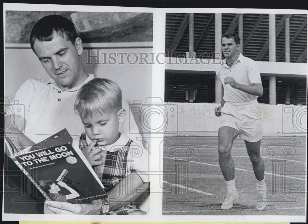
[[[245,141],[247,153],[252,163],[254,175],[257,178],[257,210],[262,211],[266,206],[266,185],[264,179],[264,161],[260,155],[261,140]]]

